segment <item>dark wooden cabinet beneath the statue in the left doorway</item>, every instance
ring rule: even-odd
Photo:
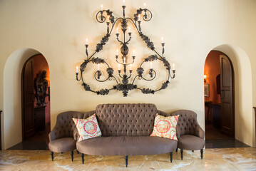
[[[34,121],[36,132],[46,129],[46,105],[34,108]]]

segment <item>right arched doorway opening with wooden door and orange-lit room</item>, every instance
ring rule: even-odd
[[[235,138],[235,78],[230,58],[221,51],[210,51],[204,74],[205,139]]]

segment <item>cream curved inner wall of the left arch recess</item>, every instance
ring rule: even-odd
[[[24,63],[35,54],[32,48],[21,48],[9,56],[4,66],[4,113],[2,146],[7,149],[22,141],[21,73]]]

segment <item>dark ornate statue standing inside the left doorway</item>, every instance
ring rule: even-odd
[[[48,96],[47,89],[48,89],[48,81],[46,80],[46,71],[36,74],[36,78],[34,80],[34,88],[35,88],[35,98],[37,100],[36,105],[46,105],[46,96]]]

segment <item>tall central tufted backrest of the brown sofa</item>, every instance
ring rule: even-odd
[[[101,104],[96,107],[102,136],[149,136],[158,112],[154,104]]]

